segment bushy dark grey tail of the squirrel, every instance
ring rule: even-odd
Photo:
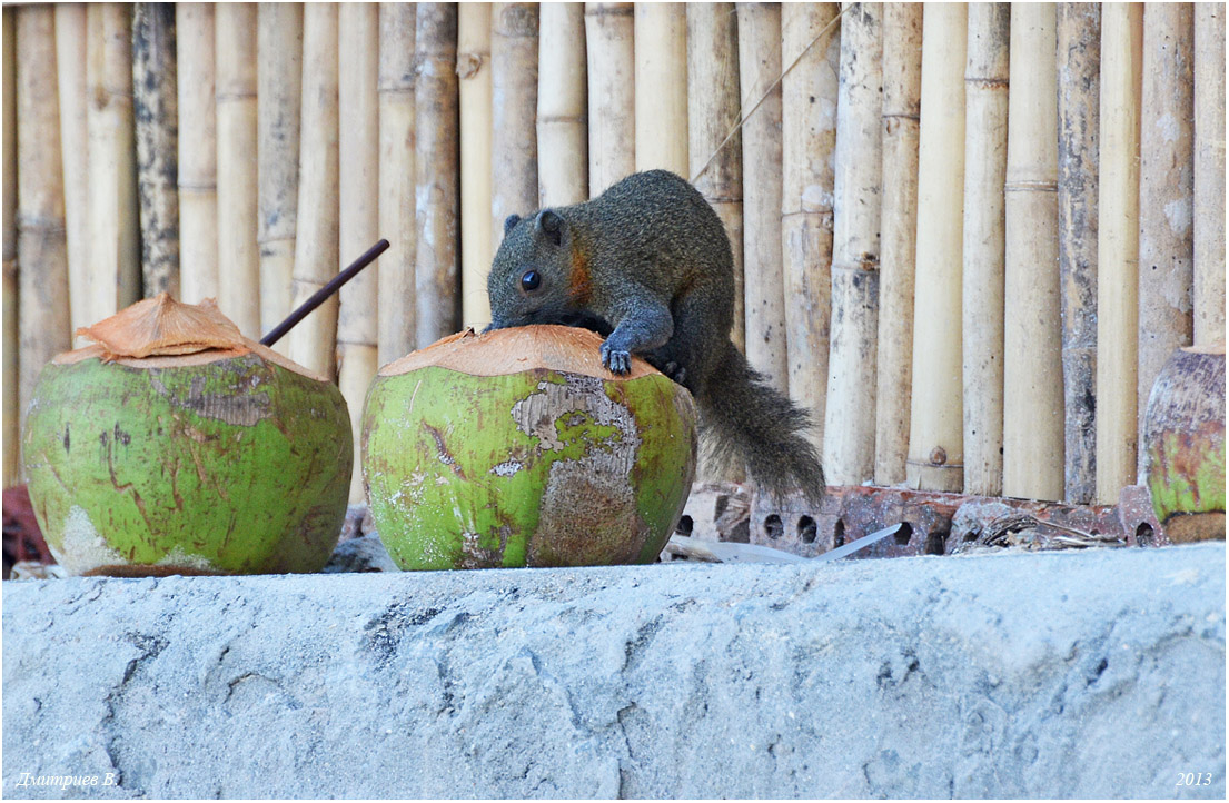
[[[720,466],[744,462],[762,489],[780,499],[801,491],[812,503],[823,497],[823,469],[801,433],[807,411],[773,390],[747,365],[732,343],[708,378],[702,398],[701,443]]]

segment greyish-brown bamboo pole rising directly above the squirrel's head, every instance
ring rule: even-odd
[[[537,81],[538,11],[532,2],[497,2],[492,6],[492,247],[504,239],[504,220],[511,214],[527,215],[537,208]],[[487,272],[461,279],[465,298],[474,296],[469,309],[482,311],[481,322],[490,320]],[[466,323],[471,320],[467,318]],[[474,321],[477,322],[477,321]]]

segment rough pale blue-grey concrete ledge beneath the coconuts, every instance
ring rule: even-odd
[[[4,583],[2,792],[1223,798],[1224,555]]]

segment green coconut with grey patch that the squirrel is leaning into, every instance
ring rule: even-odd
[[[601,337],[445,338],[380,370],[363,414],[371,518],[403,569],[656,560],[696,473],[691,394]]]

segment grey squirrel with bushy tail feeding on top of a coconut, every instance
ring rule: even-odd
[[[602,334],[602,365],[632,354],[696,398],[701,441],[718,465],[737,460],[780,499],[825,493],[807,412],[773,390],[730,341],[734,257],[721,219],[685,178],[634,173],[597,198],[510,215],[487,290],[497,330],[583,326]]]

